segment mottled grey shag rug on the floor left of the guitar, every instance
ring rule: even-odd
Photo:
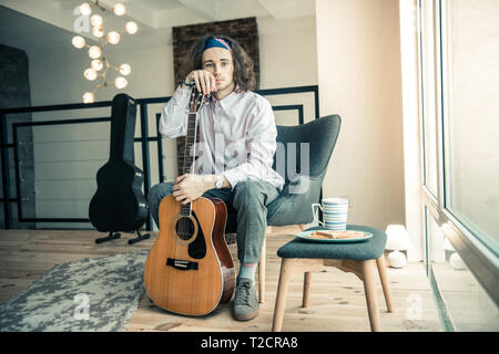
[[[0,304],[1,332],[125,331],[149,250],[57,264]]]

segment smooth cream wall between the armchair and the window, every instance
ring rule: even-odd
[[[398,0],[317,0],[320,115],[339,114],[324,196],[348,222],[405,223]]]

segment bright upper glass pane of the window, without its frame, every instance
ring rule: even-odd
[[[442,4],[446,208],[499,254],[499,1]]]

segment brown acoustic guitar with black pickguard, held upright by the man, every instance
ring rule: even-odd
[[[192,171],[196,116],[204,96],[191,94],[183,173]],[[227,208],[218,198],[182,205],[172,195],[160,202],[160,233],[147,256],[144,283],[157,306],[184,315],[205,315],[232,298],[234,261],[225,242]]]

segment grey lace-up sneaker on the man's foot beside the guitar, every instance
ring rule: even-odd
[[[237,280],[233,313],[237,321],[253,320],[258,315],[258,301],[251,279],[241,278]]]

